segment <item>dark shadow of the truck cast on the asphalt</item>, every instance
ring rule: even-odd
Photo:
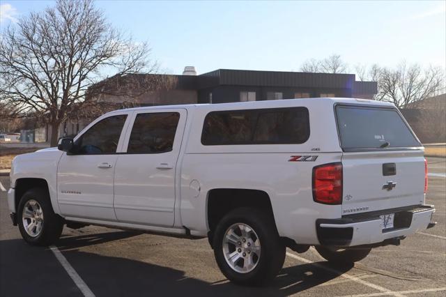
[[[138,233],[116,231],[103,234],[65,236],[57,246],[90,287],[95,296],[289,296],[323,284],[337,277],[311,264],[286,267],[268,287],[242,287],[222,280],[206,282],[187,277],[185,271],[144,261],[108,257],[77,248],[118,241]],[[13,252],[11,252],[13,250]],[[42,296],[79,296],[80,291],[63,271],[48,248],[26,245],[22,240],[0,241],[2,296],[25,294],[20,286],[24,277],[27,287],[42,287]],[[8,254],[8,256],[6,256]],[[326,266],[325,262],[318,263]],[[45,267],[45,269],[39,269]],[[341,273],[351,267],[339,268]],[[32,275],[38,277],[32,277]],[[60,279],[60,280],[59,280]],[[36,284],[33,282],[36,281]],[[56,286],[54,283],[58,282]],[[17,283],[17,284],[16,284]],[[21,291],[17,292],[17,285]],[[10,291],[13,290],[13,291]],[[11,292],[16,292],[11,294]],[[39,294],[40,295],[40,294]]]

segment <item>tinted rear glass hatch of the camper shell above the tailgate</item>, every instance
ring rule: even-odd
[[[396,109],[338,105],[344,151],[421,146]]]

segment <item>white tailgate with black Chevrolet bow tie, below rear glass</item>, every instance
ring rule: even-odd
[[[344,153],[342,214],[424,203],[423,151]]]

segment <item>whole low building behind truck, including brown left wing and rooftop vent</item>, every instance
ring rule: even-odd
[[[144,79],[146,75],[138,76]],[[153,78],[156,75],[149,76]],[[196,75],[194,68],[189,66],[183,75],[164,76],[170,77],[174,84],[169,89],[141,94],[137,98],[139,105],[318,97],[372,99],[377,92],[376,82],[357,82],[353,74],[219,69]],[[125,101],[125,96],[105,94],[101,95],[101,100],[120,103]]]

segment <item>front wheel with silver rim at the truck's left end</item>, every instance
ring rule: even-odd
[[[62,234],[63,218],[54,213],[49,195],[42,188],[28,190],[17,209],[20,234],[31,245],[51,245]]]

